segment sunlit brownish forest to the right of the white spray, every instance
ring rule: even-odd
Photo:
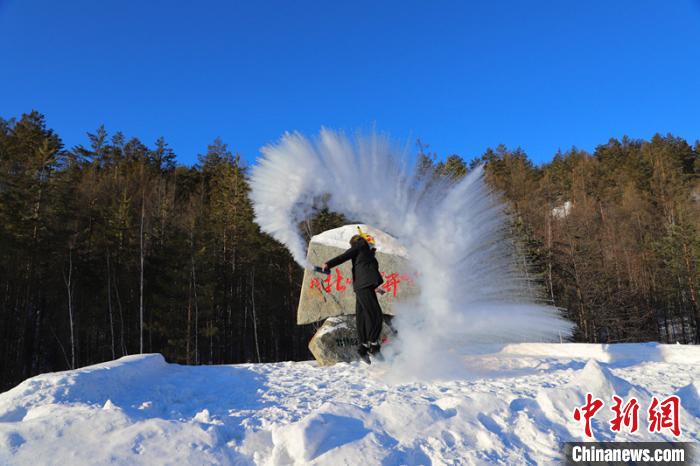
[[[611,139],[540,167],[504,146],[469,163],[426,152],[445,176],[485,164],[530,273],[577,341],[700,343],[700,142]]]

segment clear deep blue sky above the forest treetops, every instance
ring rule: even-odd
[[[69,147],[104,124],[186,164],[321,126],[467,159],[692,142],[700,0],[0,0],[0,116],[31,109]]]

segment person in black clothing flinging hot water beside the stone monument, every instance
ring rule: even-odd
[[[369,355],[381,359],[381,343],[379,335],[382,332],[382,308],[377,299],[377,293],[384,294],[379,286],[384,283],[379,273],[379,263],[375,257],[374,239],[362,233],[350,239],[350,249],[339,256],[330,259],[321,266],[325,272],[330,272],[348,260],[352,260],[352,287],[355,292],[355,319],[359,346],[357,352],[360,358],[370,363]]]

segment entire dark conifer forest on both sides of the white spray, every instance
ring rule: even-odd
[[[697,341],[698,143],[611,140],[535,166],[486,164],[530,273],[579,341]],[[220,140],[192,167],[104,128],[65,148],[32,112],[0,119],[0,390],[31,375],[161,352],[185,364],[308,359],[302,271],[253,222],[247,167]],[[322,212],[307,236],[342,224]]]

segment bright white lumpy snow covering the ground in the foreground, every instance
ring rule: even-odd
[[[586,393],[597,440],[698,441],[700,347],[485,348],[452,380],[387,384],[381,364],[187,367],[158,354],[44,374],[0,394],[0,464],[558,464]],[[612,394],[639,400],[614,435]],[[681,397],[674,438],[652,396]],[[624,429],[624,427],[623,427]]]

